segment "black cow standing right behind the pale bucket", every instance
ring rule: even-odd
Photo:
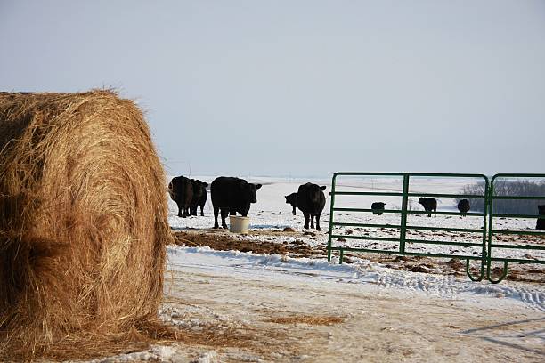
[[[227,228],[227,215],[246,217],[251,203],[256,203],[256,190],[261,184],[251,184],[244,179],[220,176],[210,184],[212,206],[214,206],[214,228],[219,228],[217,215],[222,211],[222,227]]]

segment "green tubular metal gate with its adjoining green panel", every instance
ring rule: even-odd
[[[343,176],[361,176],[361,177],[384,177],[384,178],[403,178],[403,187],[401,190],[395,191],[348,191],[341,190],[342,186],[338,184],[338,179]],[[415,178],[471,178],[483,183],[484,188],[482,193],[477,194],[450,194],[450,193],[423,193],[423,192],[411,192],[411,180]],[[503,258],[494,256],[494,252],[499,248],[511,248],[511,249],[533,249],[533,250],[545,250],[543,246],[520,246],[520,245],[504,245],[494,244],[492,242],[492,236],[494,234],[519,234],[519,235],[545,235],[544,232],[537,231],[514,231],[514,230],[497,230],[493,229],[494,218],[545,218],[545,216],[539,215],[525,215],[525,214],[494,214],[492,213],[492,206],[494,199],[508,199],[508,198],[525,198],[525,199],[545,199],[545,196],[535,197],[520,197],[520,196],[496,196],[493,192],[493,181],[500,177],[544,177],[545,174],[498,174],[492,178],[492,184],[489,182],[488,177],[484,174],[475,173],[335,173],[331,181],[331,201],[330,201],[330,214],[329,214],[329,238],[328,238],[328,260],[331,261],[331,253],[337,251],[339,254],[339,263],[343,262],[345,252],[367,252],[378,254],[398,254],[398,255],[419,255],[427,257],[443,257],[443,258],[457,258],[466,260],[466,273],[468,277],[473,281],[481,281],[484,277],[492,283],[500,282],[508,272],[508,262],[521,262],[521,263],[545,263],[545,261],[536,259],[520,259],[520,258]],[[411,179],[412,178],[412,179]],[[377,197],[400,197],[402,198],[400,209],[384,209],[381,213],[385,214],[401,214],[399,224],[375,224],[375,223],[354,223],[354,222],[338,222],[337,215],[339,212],[349,213],[372,213],[373,209],[360,208],[360,207],[338,207],[336,206],[337,196],[377,196]],[[470,199],[484,199],[484,211],[483,213],[468,213],[467,216],[482,218],[483,225],[480,229],[466,229],[466,228],[445,228],[434,226],[419,226],[408,223],[408,215],[411,214],[428,214],[426,211],[413,211],[408,208],[408,201],[410,197],[425,197],[425,198],[470,198]],[[376,212],[376,211],[375,211]],[[460,216],[459,212],[436,212],[439,215],[456,215]],[[487,227],[488,225],[488,227]],[[399,230],[399,236],[397,238],[385,238],[385,237],[373,237],[373,236],[358,236],[353,234],[335,234],[334,228],[336,227],[354,227],[354,228],[370,228],[370,229],[395,229]],[[451,233],[471,233],[480,236],[480,242],[470,241],[445,241],[435,239],[421,239],[411,238],[408,236],[408,231],[418,230],[433,230],[433,231],[447,231]],[[392,249],[378,249],[378,248],[361,248],[351,246],[333,246],[333,240],[338,238],[346,239],[360,239],[360,240],[373,240],[381,242],[396,242],[399,246],[396,250]],[[437,253],[419,253],[407,251],[407,245],[439,245],[439,246],[460,246],[471,247],[474,249],[472,254],[437,254]],[[480,262],[480,270],[476,276],[470,272],[470,262]],[[492,278],[492,262],[504,262],[504,269],[502,276],[495,280]]]

